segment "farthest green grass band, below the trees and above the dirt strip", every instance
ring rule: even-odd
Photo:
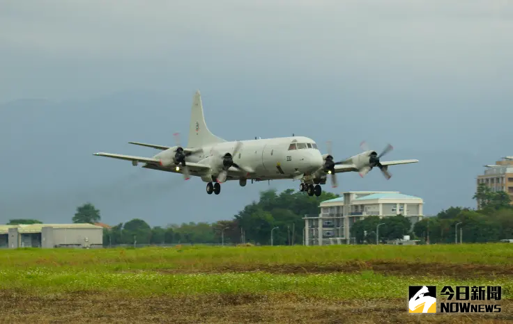
[[[45,268],[95,271],[189,269],[301,264],[344,264],[347,261],[397,263],[513,265],[513,244],[463,245],[330,245],[284,247],[206,247],[139,249],[0,250],[1,269]]]

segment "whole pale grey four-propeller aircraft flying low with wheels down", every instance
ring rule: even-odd
[[[176,136],[177,134],[175,134]],[[330,175],[332,186],[337,186],[339,172],[359,172],[364,177],[374,167],[380,168],[390,179],[389,165],[416,163],[418,160],[381,162],[380,158],[392,149],[388,145],[383,153],[377,154],[360,145],[365,152],[349,159],[335,162],[331,152],[321,154],[314,140],[303,136],[266,138],[254,140],[227,141],[215,136],[206,127],[201,95],[194,95],[190,118],[187,146],[182,147],[177,140],[173,147],[146,143],[130,144],[153,147],[162,152],[148,158],[111,153],[94,153],[114,159],[132,161],[132,165],[144,163],[142,168],[181,173],[187,180],[190,176],[201,177],[207,183],[208,195],[221,192],[221,183],[238,180],[245,186],[248,179],[253,181],[296,179],[300,180],[300,191],[308,195],[321,195],[321,184],[326,184]],[[329,148],[328,151],[331,151]]]

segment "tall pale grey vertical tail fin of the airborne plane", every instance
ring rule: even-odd
[[[226,142],[226,140],[215,136],[210,132],[210,130],[208,130],[208,127],[206,127],[199,90],[194,94],[194,99],[192,100],[189,138],[187,140],[187,147],[203,147],[215,143]]]

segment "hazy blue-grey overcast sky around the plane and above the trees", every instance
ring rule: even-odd
[[[0,2],[0,223],[68,222],[91,200],[109,224],[231,218],[266,188],[223,185],[92,156],[174,145],[192,95],[227,140],[314,138],[335,159],[419,159],[342,191],[401,191],[424,213],[475,206],[475,177],[513,155],[511,1]],[[183,138],[185,143],[186,138]]]

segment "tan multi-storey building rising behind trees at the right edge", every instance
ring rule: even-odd
[[[506,156],[495,164],[484,165],[484,175],[477,176],[477,186],[487,185],[491,191],[505,191],[510,194],[513,202],[513,156]],[[477,201],[477,209],[480,208],[480,202]]]

